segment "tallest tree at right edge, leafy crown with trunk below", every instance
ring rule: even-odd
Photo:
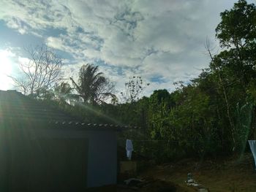
[[[210,67],[217,74],[219,87],[225,96],[233,150],[236,150],[240,145],[237,137],[240,132],[234,111],[238,102],[246,103],[247,87],[256,77],[256,7],[239,0],[220,16],[222,20],[216,28],[216,37],[225,50],[211,57]],[[222,74],[226,74],[225,78]]]

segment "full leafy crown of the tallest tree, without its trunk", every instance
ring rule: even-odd
[[[230,10],[220,14],[222,20],[216,28],[220,46],[227,48],[226,64],[233,69],[245,87],[255,78],[256,67],[256,7],[239,0]],[[226,57],[227,58],[227,57]]]

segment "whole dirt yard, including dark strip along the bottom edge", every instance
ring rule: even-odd
[[[187,174],[211,192],[255,192],[256,171],[251,153],[241,157],[218,159],[184,159],[168,164],[150,166],[138,173],[143,183],[133,183],[97,191],[118,192],[195,192],[198,188],[187,186]]]

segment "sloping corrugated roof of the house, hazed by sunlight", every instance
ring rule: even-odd
[[[22,127],[33,124],[34,128],[110,128],[114,130],[138,128],[114,124],[85,123],[56,107],[31,99],[17,91],[0,91],[0,122],[4,121],[12,122],[15,126],[22,123]]]

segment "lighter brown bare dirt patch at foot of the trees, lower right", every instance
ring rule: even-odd
[[[255,165],[250,153],[239,158],[186,159],[162,164],[146,169],[140,177],[154,177],[184,187],[189,172],[211,192],[256,191]]]

